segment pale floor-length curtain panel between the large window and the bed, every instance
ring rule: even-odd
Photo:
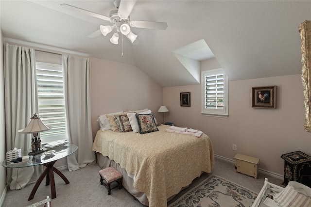
[[[62,55],[68,139],[78,150],[67,157],[69,171],[95,163],[92,152],[91,77],[88,58]]]

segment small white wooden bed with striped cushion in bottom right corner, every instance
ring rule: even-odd
[[[252,207],[311,207],[311,188],[301,183],[290,181],[283,188],[268,182],[265,178]]]

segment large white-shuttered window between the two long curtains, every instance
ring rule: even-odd
[[[40,133],[43,143],[66,139],[63,67],[36,62],[39,116],[52,127]]]

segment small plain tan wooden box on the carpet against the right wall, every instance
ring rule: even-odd
[[[257,179],[259,159],[247,155],[236,154],[235,172],[253,176]]]

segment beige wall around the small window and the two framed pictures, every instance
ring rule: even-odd
[[[219,68],[217,61],[201,64],[202,70]],[[277,86],[276,109],[251,108],[251,87]],[[165,122],[197,128],[212,140],[215,154],[233,159],[242,153],[260,159],[259,168],[283,175],[282,154],[302,151],[311,155],[311,134],[304,131],[301,75],[229,82],[229,117],[201,115],[201,86],[163,89],[164,104],[170,110]],[[191,93],[191,107],[180,107],[180,92]],[[232,150],[237,144],[237,151]]]

